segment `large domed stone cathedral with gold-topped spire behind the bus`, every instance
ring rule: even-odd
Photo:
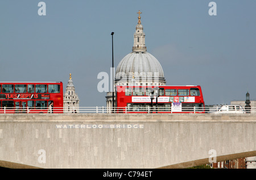
[[[115,85],[120,86],[163,86],[166,79],[160,62],[147,52],[145,34],[141,24],[142,12],[137,12],[138,24],[134,33],[132,52],[123,57],[115,71]],[[112,107],[112,92],[106,95],[106,106]],[[115,101],[115,98],[114,98]],[[116,105],[114,105],[116,106]]]

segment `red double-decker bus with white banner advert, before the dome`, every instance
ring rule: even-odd
[[[158,87],[159,97],[151,100],[154,86],[116,86],[117,112],[204,112],[200,86]]]

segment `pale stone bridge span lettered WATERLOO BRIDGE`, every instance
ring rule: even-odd
[[[256,156],[256,114],[1,114],[0,166],[187,168]]]

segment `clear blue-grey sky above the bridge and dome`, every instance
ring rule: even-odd
[[[256,1],[51,0],[46,16],[36,0],[0,2],[0,81],[62,81],[72,73],[80,106],[106,106],[97,90],[131,52],[138,10],[147,51],[167,85],[200,85],[205,104],[256,99]],[[64,89],[65,90],[65,89]]]

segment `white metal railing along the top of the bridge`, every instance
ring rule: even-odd
[[[79,108],[63,108],[54,107],[48,110],[48,107],[1,107],[0,114],[6,113],[213,113],[217,112],[220,107],[79,107]],[[218,113],[218,112],[217,112]],[[250,113],[256,113],[256,108],[251,108]]]

